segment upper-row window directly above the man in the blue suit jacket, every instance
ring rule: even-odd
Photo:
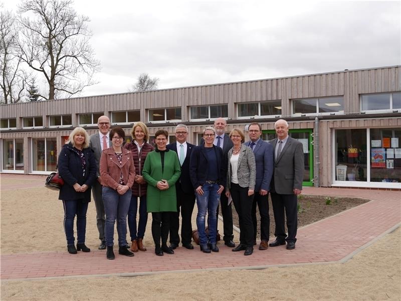
[[[238,117],[281,115],[281,101],[247,102],[238,104]]]

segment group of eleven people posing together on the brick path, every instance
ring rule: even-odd
[[[108,259],[115,258],[116,221],[118,253],[134,256],[135,252],[146,251],[143,237],[149,212],[156,255],[173,254],[180,242],[186,249],[193,249],[191,218],[195,200],[200,250],[205,253],[219,252],[219,207],[224,243],[233,251],[253,253],[257,240],[257,207],[261,216],[259,249],[285,244],[287,249],[294,249],[297,195],[302,190],[304,173],[302,143],[288,136],[288,123],[283,119],[275,122],[277,138],[269,142],[261,139],[262,128],[257,122],[249,125],[247,142],[242,129],[234,128],[227,135],[226,126],[224,118],[216,119],[214,127],[203,130],[198,146],[186,141],[188,128],[184,124],[176,126],[176,142],[170,144],[167,144],[168,132],[161,129],[154,134],[156,148],[148,142],[149,132],[143,122],[133,125],[132,140],[125,144],[124,130],[118,126],[110,129],[107,116],[99,117],[99,131],[90,137],[84,128],[75,128],[62,147],[58,161],[59,174],[65,181],[59,199],[64,205],[68,252],[90,251],[85,245],[90,188],[96,205],[98,248],[107,249]],[[270,244],[269,193],[276,225],[276,240]],[[237,246],[233,242],[232,203],[239,217]],[[127,219],[130,244],[126,240]]]

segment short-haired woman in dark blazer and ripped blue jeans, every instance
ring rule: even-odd
[[[207,126],[203,136],[205,144],[192,150],[189,164],[190,177],[196,193],[196,226],[199,234],[200,250],[204,253],[219,252],[216,244],[217,206],[226,180],[226,163],[221,147],[213,145],[215,129]],[[205,232],[208,212],[209,241]]]

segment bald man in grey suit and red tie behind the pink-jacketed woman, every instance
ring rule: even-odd
[[[107,116],[100,116],[97,120],[97,126],[99,127],[99,131],[96,134],[91,135],[90,137],[90,147],[93,149],[95,153],[96,167],[97,167],[97,180],[92,185],[92,196],[95,200],[96,206],[96,225],[99,231],[99,239],[101,241],[99,245],[99,250],[106,249],[106,242],[104,238],[104,223],[105,223],[105,213],[104,213],[104,205],[102,199],[102,186],[100,185],[100,173],[99,173],[99,163],[100,156],[102,155],[102,150],[105,148],[109,148],[110,140],[109,140],[109,129],[110,129],[110,119]]]

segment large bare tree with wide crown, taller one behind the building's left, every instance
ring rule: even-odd
[[[26,0],[19,6],[20,58],[49,84],[45,99],[72,96],[95,84],[100,63],[89,45],[89,19],[78,16],[72,0]],[[24,17],[30,13],[35,19]]]

